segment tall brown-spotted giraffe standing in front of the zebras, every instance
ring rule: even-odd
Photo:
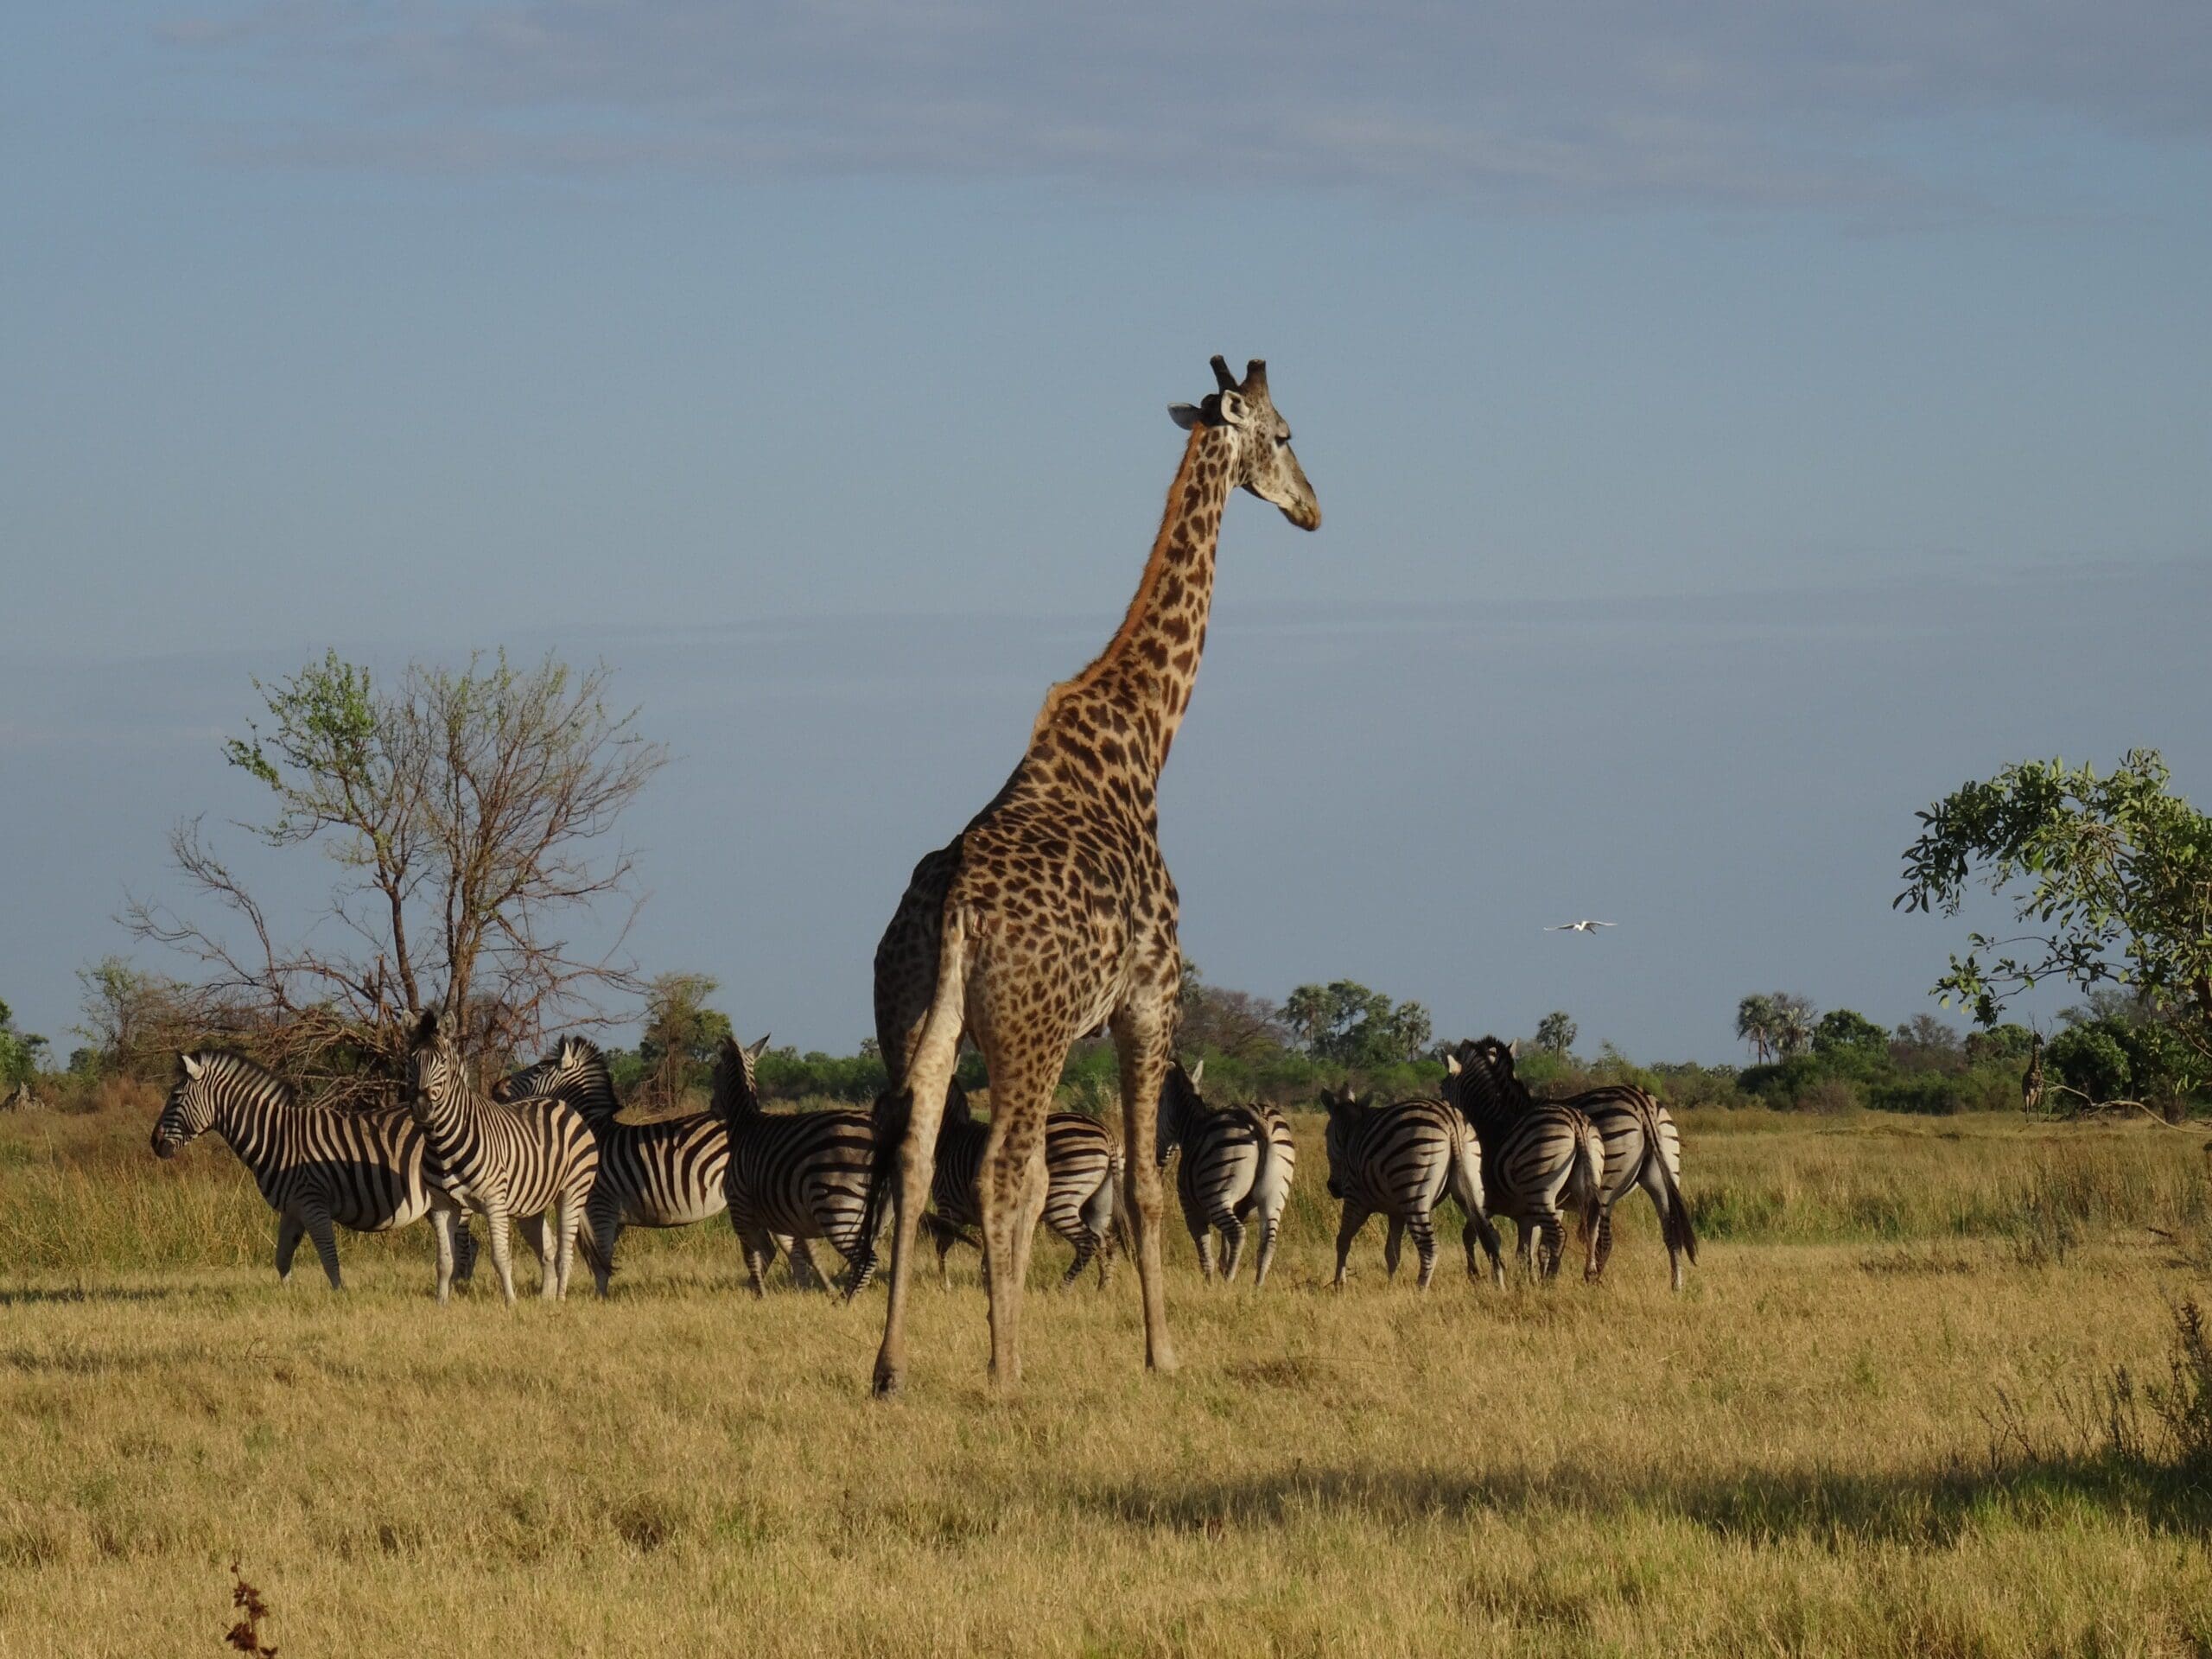
[[[1168,409],[1190,438],[1121,628],[1088,668],[1044,695],[1013,776],[914,867],[876,947],[876,1035],[891,1073],[878,1183],[891,1188],[896,1208],[876,1394],[896,1391],[905,1374],[916,1225],[962,1035],[991,1073],[978,1186],[993,1383],[1006,1394],[1020,1387],[1022,1283],[1046,1197],[1044,1119],[1068,1044],[1099,1024],[1113,1031],[1121,1066],[1121,1168],[1146,1365],[1175,1369],[1152,1148],[1183,956],[1155,785],[1206,648],[1230,491],[1252,491],[1298,529],[1321,524],[1290,425],[1267,392],[1267,365],[1254,358],[1243,380],[1219,356],[1212,369],[1217,392]]]

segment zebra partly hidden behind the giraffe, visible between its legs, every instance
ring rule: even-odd
[[[929,1179],[929,1214],[922,1225],[938,1241],[938,1279],[951,1285],[947,1256],[956,1243],[975,1243],[982,1225],[982,1201],[975,1183],[982,1179],[991,1126],[969,1113],[967,1091],[951,1084],[945,1091],[945,1121],[938,1126],[938,1157]],[[1060,1276],[1066,1290],[1082,1279],[1093,1261],[1099,1265],[1099,1287],[1113,1279],[1115,1250],[1126,1241],[1128,1219],[1121,1210],[1121,1148],[1095,1117],[1051,1113],[1044,1119],[1044,1225],[1075,1248],[1075,1261]],[[987,1267],[989,1272],[989,1267]]]

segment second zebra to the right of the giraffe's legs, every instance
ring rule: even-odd
[[[1491,1281],[1504,1285],[1498,1228],[1482,1203],[1482,1146],[1467,1119],[1442,1099],[1400,1099],[1367,1106],[1345,1088],[1321,1097],[1329,1110],[1329,1197],[1343,1199],[1336,1228],[1336,1290],[1345,1287],[1345,1256],[1367,1217],[1389,1217],[1383,1265],[1398,1276],[1398,1250],[1407,1232],[1420,1252],[1420,1290],[1436,1279],[1436,1206],[1451,1194],[1467,1214],[1467,1276],[1480,1279],[1475,1241],[1491,1259]]]

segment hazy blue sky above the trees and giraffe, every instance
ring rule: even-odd
[[[648,967],[847,1046],[905,869],[1110,630],[1206,356],[1186,947],[1451,1031],[1885,1020],[1911,810],[2212,796],[2201,4],[192,4],[0,55],[0,998],[252,807],[323,646],[604,653]],[[20,872],[38,872],[24,883]],[[1619,911],[1619,933],[1544,920]]]

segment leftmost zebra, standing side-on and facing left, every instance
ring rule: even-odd
[[[389,1232],[425,1214],[451,1217],[453,1199],[425,1166],[425,1139],[403,1106],[345,1113],[301,1106],[276,1073],[228,1048],[177,1055],[181,1075],[153,1126],[155,1157],[175,1157],[210,1128],[252,1170],[276,1212],[276,1279],[292,1283],[301,1234],[314,1241],[332,1290],[338,1241],[332,1223],[354,1232]],[[460,1270],[476,1270],[476,1234],[460,1219]]]

